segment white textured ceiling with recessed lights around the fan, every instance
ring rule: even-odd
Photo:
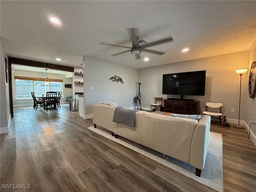
[[[81,68],[90,56],[145,68],[249,50],[256,39],[256,1],[1,1],[1,36],[8,56]],[[50,16],[62,25],[54,26]],[[135,60],[121,47],[131,46],[126,28],[139,28],[152,42],[172,36],[174,42],[149,49]],[[190,48],[187,53],[181,50]],[[55,59],[61,58],[58,62]]]

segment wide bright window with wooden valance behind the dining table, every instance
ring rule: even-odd
[[[50,79],[49,82],[40,78],[14,77],[16,83],[16,99],[32,99],[31,91],[35,96],[41,96],[48,91],[62,92],[62,80]],[[31,79],[31,80],[30,80]]]

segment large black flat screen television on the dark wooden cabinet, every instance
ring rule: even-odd
[[[204,96],[206,70],[163,74],[162,94]]]

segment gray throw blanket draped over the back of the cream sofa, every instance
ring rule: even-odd
[[[123,123],[132,127],[136,126],[135,114],[138,109],[130,110],[122,107],[116,107],[114,111],[113,122]]]

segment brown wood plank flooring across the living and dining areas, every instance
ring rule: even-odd
[[[10,132],[0,135],[1,192],[213,192],[214,190],[88,129],[70,112],[14,108]],[[256,147],[238,128],[211,125],[223,136],[225,192],[256,188]],[[2,184],[30,185],[3,189]]]

